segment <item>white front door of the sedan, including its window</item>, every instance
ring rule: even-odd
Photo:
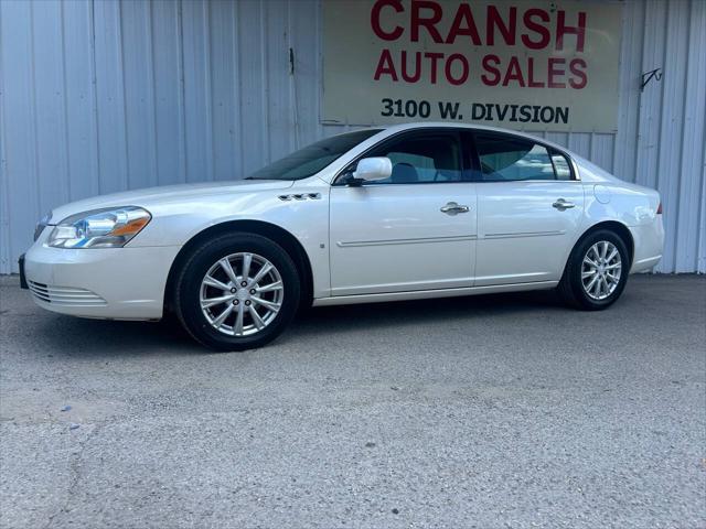
[[[464,180],[458,134],[408,132],[365,155],[388,156],[393,174],[331,187],[332,294],[472,287],[477,184]]]

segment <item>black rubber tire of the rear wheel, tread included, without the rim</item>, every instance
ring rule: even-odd
[[[601,242],[609,242],[612,245],[620,255],[621,270],[620,278],[614,287],[614,290],[603,299],[596,299],[593,295],[589,295],[584,287],[582,272],[584,259],[587,252],[593,247],[593,245]],[[630,255],[628,253],[628,247],[622,238],[614,231],[609,229],[596,230],[586,237],[584,237],[574,247],[571,255],[569,256],[566,268],[564,269],[564,276],[557,287],[559,296],[565,303],[584,311],[601,311],[612,305],[628,282],[628,273],[630,272]],[[592,269],[592,267],[590,267]],[[591,278],[587,278],[587,282],[590,284]],[[603,295],[606,292],[601,293]]]

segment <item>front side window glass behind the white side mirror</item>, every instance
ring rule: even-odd
[[[461,145],[456,134],[415,133],[393,139],[365,156],[387,156],[393,173],[376,184],[420,184],[462,180]]]

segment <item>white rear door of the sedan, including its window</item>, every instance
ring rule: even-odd
[[[559,280],[584,214],[584,188],[569,160],[521,137],[473,138],[475,285]]]

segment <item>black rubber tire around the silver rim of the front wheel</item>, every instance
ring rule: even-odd
[[[266,326],[250,335],[235,336],[224,334],[210,323],[201,309],[200,294],[206,272],[221,259],[240,252],[261,257],[275,267],[281,277],[282,299],[279,311]],[[206,347],[224,352],[263,347],[279,336],[297,313],[301,290],[297,267],[287,251],[266,237],[246,233],[220,235],[195,248],[180,270],[174,289],[176,316],[184,328]],[[227,294],[228,291],[225,292]],[[243,301],[243,303],[246,302]],[[248,311],[255,307],[255,302],[252,303]],[[245,314],[248,313],[244,306],[240,309]],[[235,310],[232,309],[233,312]],[[255,321],[250,320],[250,323],[254,325]],[[232,324],[232,327],[235,330],[235,324]]]

